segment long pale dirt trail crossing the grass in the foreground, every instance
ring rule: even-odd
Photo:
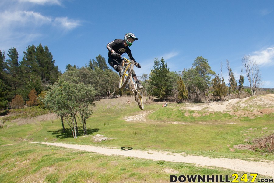
[[[39,142],[33,142],[39,143]],[[73,145],[63,143],[49,143],[41,142],[41,144],[65,147],[70,149],[79,149],[82,151],[96,152],[107,156],[129,156],[135,158],[144,158],[150,160],[164,160],[170,162],[184,162],[194,163],[197,166],[216,166],[227,168],[235,171],[242,171],[245,173],[258,173],[274,178],[274,161],[244,161],[239,159],[229,158],[209,158],[203,156],[190,156],[185,154],[177,154],[170,152],[158,152],[158,151],[141,151],[141,150],[121,150],[111,149],[107,147],[95,147],[90,145]]]

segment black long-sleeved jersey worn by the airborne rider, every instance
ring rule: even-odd
[[[134,60],[132,57],[131,50],[128,48],[128,46],[125,46],[124,40],[122,39],[115,39],[114,41],[107,44],[108,49],[108,57],[111,57],[111,50],[114,50],[116,53],[119,53],[120,55],[123,55],[124,53],[128,54],[129,59]]]

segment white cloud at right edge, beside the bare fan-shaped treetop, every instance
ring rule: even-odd
[[[274,47],[254,52],[251,57],[261,66],[274,64]]]

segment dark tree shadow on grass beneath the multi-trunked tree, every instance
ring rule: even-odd
[[[86,135],[91,135],[94,132],[99,131],[99,128],[94,128],[94,129],[86,129],[87,134]],[[53,135],[55,135],[56,138],[64,139],[64,138],[73,138],[72,135],[72,130],[70,128],[66,128],[65,132],[63,132],[63,129],[55,130],[55,131],[47,131]],[[84,135],[84,130],[83,129],[78,129],[78,136]]]

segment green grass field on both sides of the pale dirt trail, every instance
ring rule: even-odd
[[[195,117],[191,114],[196,111],[180,109],[185,104],[174,103],[163,108],[162,103],[151,103],[141,111],[137,104],[128,105],[126,101],[127,98],[98,101],[87,121],[89,136],[83,137],[83,129],[79,126],[77,139],[73,138],[68,126],[65,126],[66,132],[62,132],[59,119],[45,117],[45,120],[37,121],[33,118],[24,123],[6,121],[0,129],[0,182],[169,182],[171,174],[231,176],[246,173],[219,167],[196,167],[189,163],[104,156],[30,142],[274,160],[273,155],[233,148],[238,144],[251,145],[252,139],[274,133],[273,113],[250,119],[221,112],[204,115],[205,111],[199,111],[200,115]],[[186,116],[186,112],[190,115]],[[146,113],[144,121],[125,120],[128,116]],[[113,139],[93,142],[96,134]],[[258,178],[267,177],[259,175]]]

